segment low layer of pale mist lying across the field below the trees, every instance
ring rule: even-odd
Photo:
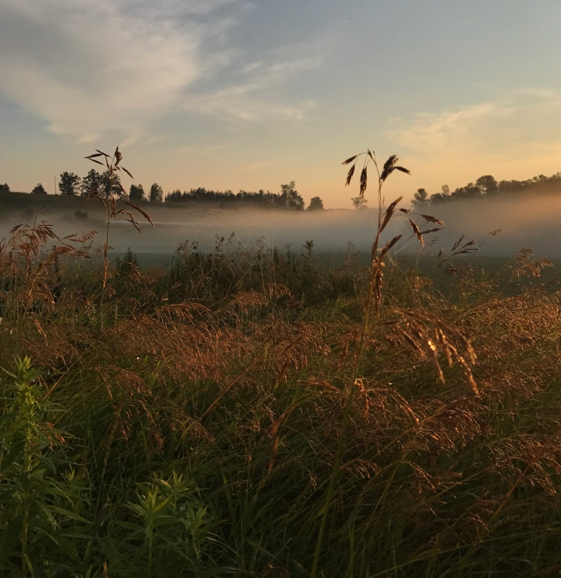
[[[391,200],[388,200],[391,201]],[[402,208],[409,205],[401,203]],[[92,211],[88,205],[88,220],[79,220],[69,211],[61,214],[60,208],[46,209],[37,215],[53,225],[60,236],[82,233],[95,229],[98,232],[94,242],[101,246],[104,242],[104,213]],[[148,206],[155,227],[150,227],[142,218],[142,234],[121,218],[110,227],[110,244],[114,251],[173,254],[180,244],[196,243],[198,249],[211,251],[217,239],[225,238],[222,250],[235,251],[261,247],[276,247],[284,250],[300,251],[307,241],[314,242],[314,251],[344,252],[350,243],[357,251],[368,253],[377,227],[377,211],[325,210],[325,211],[223,211],[220,209],[175,209],[171,206]],[[464,236],[464,241],[476,240],[480,254],[485,256],[513,256],[523,248],[533,249],[539,256],[561,257],[561,234],[559,215],[560,198],[540,196],[524,198],[481,199],[455,201],[428,206],[419,211],[427,213],[445,223],[442,231],[426,235],[424,251],[437,253],[449,250],[455,241]],[[31,220],[35,215],[30,217]],[[417,222],[421,231],[435,227],[414,212],[404,214],[396,211],[394,218],[384,232],[383,240],[402,233],[396,245],[399,252],[416,252],[419,247],[409,223],[409,218]],[[0,238],[6,238],[11,227],[23,222],[21,215],[3,215],[0,220]],[[422,225],[425,225],[422,227]],[[496,233],[500,229],[500,233]],[[495,232],[495,234],[491,234]],[[229,240],[229,242],[227,242]]]

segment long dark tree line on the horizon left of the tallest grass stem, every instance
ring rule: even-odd
[[[121,184],[118,174],[113,173],[113,179],[109,171],[98,173],[91,169],[89,173],[81,178],[75,173],[61,173],[58,182],[58,189],[62,195],[73,195],[80,197],[101,196],[108,198],[113,195],[117,198],[125,198],[131,202],[147,201],[151,203],[218,203],[222,208],[245,206],[259,209],[288,209],[291,211],[303,211],[305,203],[301,195],[296,191],[294,181],[288,184],[281,184],[280,193],[270,191],[258,192],[239,191],[212,191],[205,188],[190,189],[180,191],[176,189],[164,198],[164,191],[158,183],[153,183],[146,193],[142,184],[131,184],[129,192],[126,193]],[[10,191],[8,184],[0,184],[0,193]],[[32,194],[45,194],[47,191],[41,183],[38,183],[31,191]],[[310,200],[307,210],[314,211],[323,209],[323,201],[319,197]]]

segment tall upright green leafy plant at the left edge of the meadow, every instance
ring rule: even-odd
[[[9,380],[2,383],[0,413],[0,570],[41,575],[48,563],[61,570],[61,552],[79,561],[75,543],[87,539],[87,522],[75,508],[82,486],[61,455],[68,434],[48,421],[59,408],[44,400],[44,382],[30,358],[3,372]]]

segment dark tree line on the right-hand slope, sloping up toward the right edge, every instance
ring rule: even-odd
[[[423,206],[451,202],[461,199],[481,199],[517,193],[546,194],[558,192],[561,188],[561,173],[550,177],[539,175],[528,180],[497,181],[493,175],[483,175],[475,182],[459,186],[455,191],[445,184],[438,193],[429,195],[426,189],[417,189],[413,195],[412,205],[415,209]]]

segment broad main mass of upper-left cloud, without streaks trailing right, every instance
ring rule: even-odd
[[[90,142],[117,130],[135,139],[179,108],[182,91],[207,74],[209,61],[227,61],[220,49],[204,55],[202,45],[234,23],[231,13],[209,19],[211,12],[234,5],[6,0],[0,91],[59,135]]]

